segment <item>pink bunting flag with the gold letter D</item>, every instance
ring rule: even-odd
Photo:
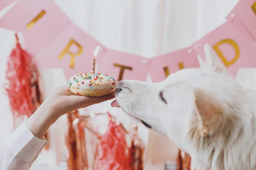
[[[234,77],[241,67],[256,67],[256,45],[243,23],[237,18],[227,21],[195,43],[195,47],[199,45],[196,52],[201,57],[205,56],[206,43],[212,46]]]

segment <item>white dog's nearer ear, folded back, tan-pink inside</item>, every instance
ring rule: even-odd
[[[201,136],[212,135],[222,120],[223,107],[220,102],[201,88],[194,88],[193,91],[200,134]]]

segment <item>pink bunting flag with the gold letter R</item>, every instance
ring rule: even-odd
[[[97,46],[100,46],[100,50],[96,63],[108,49],[75,24],[70,24],[40,53],[37,65],[39,68],[62,68],[66,78],[90,72],[93,67],[93,52]]]

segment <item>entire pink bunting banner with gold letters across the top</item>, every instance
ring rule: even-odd
[[[3,0],[0,9],[12,1]],[[256,67],[256,0],[240,0],[226,19],[191,46],[151,59],[106,48],[72,23],[52,0],[18,0],[0,19],[0,27],[23,33],[26,50],[37,57],[38,68],[62,68],[67,78],[90,70],[93,51],[100,46],[99,72],[118,80],[142,81],[149,73],[153,82],[160,82],[174,71],[198,67],[197,56],[204,57],[205,43],[234,77],[241,67]]]

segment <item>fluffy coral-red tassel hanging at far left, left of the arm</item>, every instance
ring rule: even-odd
[[[31,77],[32,57],[21,48],[17,33],[16,47],[7,62],[6,82],[4,88],[9,97],[10,109],[15,119],[31,116],[33,111]]]

